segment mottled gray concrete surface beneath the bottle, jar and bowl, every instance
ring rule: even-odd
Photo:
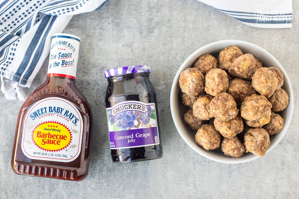
[[[89,175],[84,181],[20,176],[10,167],[21,101],[0,93],[0,198],[299,198],[298,1],[290,29],[246,26],[196,0],[110,0],[97,12],[74,16],[64,33],[81,38],[77,87],[93,115]],[[177,69],[195,50],[213,41],[238,39],[259,45],[281,63],[294,92],[294,113],[280,143],[266,156],[224,164],[197,154],[180,137],[170,113],[170,89]],[[164,157],[113,164],[105,118],[107,82],[113,67],[144,64],[158,94]],[[46,79],[48,59],[29,94]]]

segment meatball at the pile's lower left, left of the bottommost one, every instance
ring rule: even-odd
[[[210,124],[204,124],[195,135],[196,143],[206,150],[217,149],[221,143],[221,134]]]

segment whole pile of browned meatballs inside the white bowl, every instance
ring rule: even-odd
[[[181,101],[190,108],[184,121],[197,131],[195,141],[205,150],[221,145],[227,156],[263,156],[269,135],[284,125],[279,112],[288,106],[289,96],[282,85],[280,70],[263,67],[237,46],[226,47],[218,59],[202,55],[179,76]]]

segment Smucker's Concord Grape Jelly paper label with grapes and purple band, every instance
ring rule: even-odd
[[[155,104],[124,101],[106,109],[110,149],[159,144]]]

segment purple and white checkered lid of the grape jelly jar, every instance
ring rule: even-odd
[[[125,75],[137,72],[148,72],[150,73],[149,66],[126,66],[120,68],[113,68],[105,71],[105,78],[109,78],[116,75]]]

